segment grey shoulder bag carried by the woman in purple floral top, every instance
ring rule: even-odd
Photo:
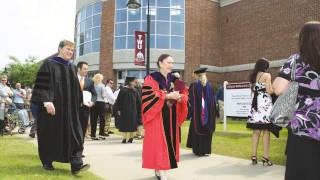
[[[296,60],[291,70],[291,82],[288,89],[278,97],[270,114],[271,123],[280,127],[287,127],[296,110],[299,83],[295,81]]]

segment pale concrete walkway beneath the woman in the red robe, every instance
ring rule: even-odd
[[[23,136],[36,144],[35,139]],[[142,141],[122,144],[120,136],[85,142],[84,162],[90,171],[107,180],[155,180],[154,171],[141,168]],[[251,161],[220,155],[196,157],[181,150],[179,168],[170,170],[169,180],[283,180],[283,166],[252,166]]]

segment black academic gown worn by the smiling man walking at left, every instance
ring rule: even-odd
[[[74,157],[83,149],[79,120],[82,94],[75,66],[59,57],[45,60],[36,77],[32,102],[39,106],[37,135],[41,161],[73,164]],[[54,116],[47,113],[43,102],[53,102]]]

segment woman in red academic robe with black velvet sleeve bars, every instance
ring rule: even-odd
[[[179,127],[187,116],[188,91],[173,88],[173,59],[163,54],[159,72],[146,76],[142,88],[142,121],[145,129],[142,167],[154,169],[158,179],[166,179],[166,170],[177,168]]]

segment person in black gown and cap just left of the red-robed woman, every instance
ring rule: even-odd
[[[138,124],[141,123],[141,98],[135,89],[134,77],[127,77],[114,105],[118,115],[118,129],[124,133],[122,143],[132,143]]]

